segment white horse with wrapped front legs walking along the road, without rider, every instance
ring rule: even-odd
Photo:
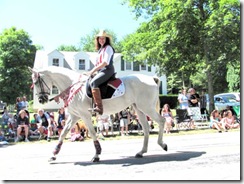
[[[56,66],[44,68],[39,71],[35,69],[30,70],[32,71],[32,80],[39,97],[39,102],[48,102],[48,85],[55,85],[61,92],[55,98],[55,101],[58,101],[58,98],[63,99],[70,114],[59,137],[58,145],[56,145],[53,156],[49,161],[56,160],[56,155],[61,149],[64,138],[74,124],[82,119],[94,141],[96,153],[92,161],[98,162],[100,160],[101,146],[97,140],[96,132],[92,124],[92,114],[88,111],[92,103],[92,99],[87,96],[85,87],[88,77],[73,70]],[[143,157],[143,154],[148,149],[149,124],[146,116],[149,116],[159,124],[157,142],[167,151],[167,144],[163,143],[165,119],[156,110],[159,106],[159,79],[142,74],[129,75],[120,79],[124,83],[125,94],[112,99],[103,99],[104,114],[115,114],[132,105],[138,115],[144,133],[143,147],[135,157]],[[73,90],[72,95],[66,93],[71,89]]]

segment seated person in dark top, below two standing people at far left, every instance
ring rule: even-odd
[[[20,140],[20,134],[24,130],[25,132],[25,142],[29,142],[28,135],[29,135],[29,118],[27,117],[25,110],[19,111],[19,116],[17,118],[17,136],[15,142]]]

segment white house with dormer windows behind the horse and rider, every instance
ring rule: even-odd
[[[48,66],[59,66],[69,68],[71,70],[75,70],[79,73],[84,71],[88,71],[93,68],[93,61],[96,58],[97,53],[95,52],[66,52],[66,51],[58,51],[53,50],[52,52],[41,51],[38,50],[36,52],[34,68],[41,69]],[[150,76],[156,75],[156,67],[145,65],[139,65],[136,62],[126,62],[123,60],[123,57],[120,53],[114,54],[114,67],[116,71],[116,77],[126,76],[132,73],[142,73]],[[158,76],[160,78],[160,94],[167,94],[167,81],[166,76]],[[49,86],[51,89],[51,97],[59,94],[56,86]],[[52,101],[47,104],[40,104],[38,101],[38,97],[36,95],[35,89],[33,90],[33,108],[39,109],[48,109],[48,110],[56,110],[63,106],[63,103],[57,104]]]

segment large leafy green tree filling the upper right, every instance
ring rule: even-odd
[[[147,60],[149,64],[160,67],[159,73],[164,72],[166,75],[178,71],[179,74],[182,72],[194,78],[197,73],[202,73],[202,80],[207,81],[205,85],[210,96],[211,110],[213,94],[228,88],[225,66],[231,63],[238,68],[240,65],[240,2],[124,2],[132,7],[137,17],[148,18],[122,42],[125,59]]]

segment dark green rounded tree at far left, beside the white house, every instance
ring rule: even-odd
[[[0,97],[14,104],[18,96],[32,99],[32,80],[28,67],[33,67],[36,48],[24,30],[15,27],[0,34]]]

